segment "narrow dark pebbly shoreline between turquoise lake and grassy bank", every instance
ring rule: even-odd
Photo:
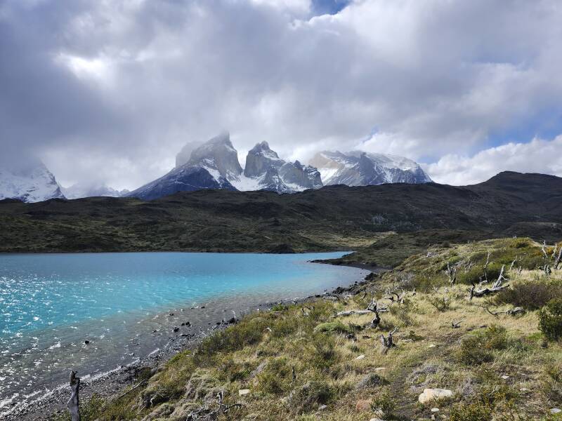
[[[321,260],[310,262],[331,264],[328,261]],[[374,273],[384,272],[386,270],[386,268],[382,267],[365,267],[365,265],[363,265],[362,267],[358,267],[356,265],[341,266],[354,267],[356,269],[363,269]],[[369,275],[370,274],[367,274],[367,276]],[[355,288],[358,288],[365,282],[366,280],[365,278],[363,278],[358,281],[354,281],[353,283],[351,283],[351,285],[338,286],[331,291],[325,290],[324,293],[320,294],[308,295],[303,298],[287,298],[285,300],[275,302],[259,303],[255,305],[253,309],[251,309],[251,312],[269,311],[270,308],[275,304],[310,302],[312,300],[318,300],[320,298],[334,296],[336,294],[353,292]],[[202,305],[201,307],[204,308],[205,305]],[[242,313],[241,317],[244,316],[244,314],[248,313]],[[209,316],[212,317],[211,314],[209,314]],[[197,347],[197,345],[199,345],[202,340],[212,335],[216,330],[225,329],[230,326],[230,324],[236,323],[236,321],[239,319],[240,317],[235,317],[234,321],[232,319],[223,319],[222,321],[216,321],[214,324],[209,322],[207,323],[207,325],[212,325],[212,327],[208,327],[204,330],[200,329],[196,333],[176,334],[174,337],[170,338],[168,342],[166,342],[166,345],[164,345],[164,347],[162,347],[161,349],[155,349],[149,354],[139,357],[137,361],[129,363],[126,366],[119,366],[113,368],[112,370],[107,370],[103,373],[98,373],[95,375],[84,375],[84,377],[81,377],[81,400],[88,401],[94,394],[96,396],[107,398],[109,396],[122,392],[126,386],[133,385],[135,383],[137,375],[143,370],[157,370],[159,366],[161,366],[163,363],[166,363],[166,361],[171,359],[179,352]],[[51,416],[54,413],[57,413],[61,410],[66,410],[65,404],[69,396],[68,387],[66,384],[57,385],[44,393],[38,391],[32,394],[33,398],[38,395],[39,398],[37,399],[32,399],[31,401],[24,400],[22,402],[13,404],[12,408],[9,409],[4,415],[0,415],[0,419],[6,421],[46,421],[51,419]],[[29,398],[30,396],[28,396],[26,399]]]

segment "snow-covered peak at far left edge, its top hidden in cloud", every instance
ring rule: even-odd
[[[55,176],[41,161],[18,168],[0,168],[0,200],[18,199],[27,203],[65,199]]]

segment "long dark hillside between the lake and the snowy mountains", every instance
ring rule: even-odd
[[[154,201],[0,202],[0,251],[334,250],[381,232],[464,229],[557,238],[562,178],[500,173],[479,185],[328,186],[296,194],[204,190]]]

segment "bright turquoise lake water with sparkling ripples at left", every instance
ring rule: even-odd
[[[110,370],[260,303],[359,281],[367,272],[308,262],[344,254],[0,255],[0,414],[70,369]]]

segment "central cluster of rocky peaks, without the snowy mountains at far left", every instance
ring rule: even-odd
[[[387,154],[321,152],[311,165],[287,162],[268,142],[250,149],[242,169],[230,135],[221,133],[193,149],[189,157],[184,147],[176,156],[176,168],[126,196],[152,200],[175,192],[202,189],[295,193],[325,185],[364,186],[388,182],[422,183],[431,182],[431,178],[414,161]]]

